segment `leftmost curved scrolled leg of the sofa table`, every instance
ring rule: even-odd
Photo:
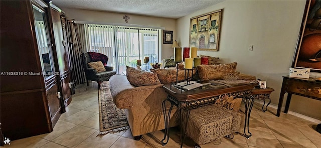
[[[168,142],[169,142],[169,138],[170,138],[170,118],[171,118],[171,111],[173,109],[173,103],[171,101],[171,107],[169,112],[167,113],[166,111],[166,100],[163,101],[162,103],[162,108],[163,108],[163,113],[164,113],[164,122],[165,122],[165,134],[164,134],[164,138],[162,139],[162,145],[165,146]],[[166,139],[166,142],[164,142],[164,140]]]

